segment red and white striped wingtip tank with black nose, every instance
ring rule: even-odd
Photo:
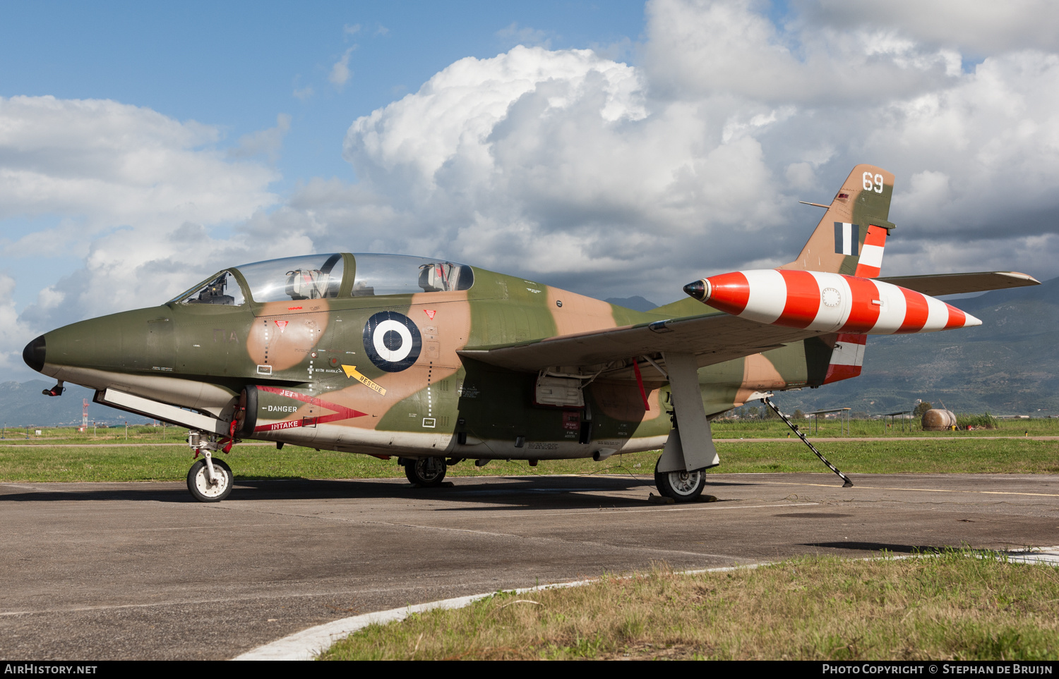
[[[740,318],[823,332],[897,334],[982,325],[914,290],[818,271],[736,271],[688,283],[684,292]]]

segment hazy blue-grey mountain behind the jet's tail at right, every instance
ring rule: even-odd
[[[868,337],[860,378],[783,394],[780,407],[1059,415],[1059,278],[957,299],[977,328]]]

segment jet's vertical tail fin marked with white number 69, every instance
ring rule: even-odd
[[[882,267],[894,176],[858,165],[843,182],[797,259],[778,269],[874,278]],[[874,272],[874,273],[873,273]]]

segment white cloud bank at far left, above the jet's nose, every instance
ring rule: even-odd
[[[237,149],[256,144],[267,153],[289,120],[281,117],[273,131],[245,137]],[[0,98],[0,220],[43,224],[25,233],[5,223],[4,257],[85,257],[83,269],[46,281],[20,313],[15,281],[0,277],[0,366],[18,365],[21,346],[38,332],[157,304],[190,276],[214,270],[212,257],[239,250],[212,250],[217,243],[205,226],[238,224],[273,204],[268,185],[277,175],[231,160],[220,142],[214,127],[116,102]],[[202,226],[182,232],[185,224]]]

